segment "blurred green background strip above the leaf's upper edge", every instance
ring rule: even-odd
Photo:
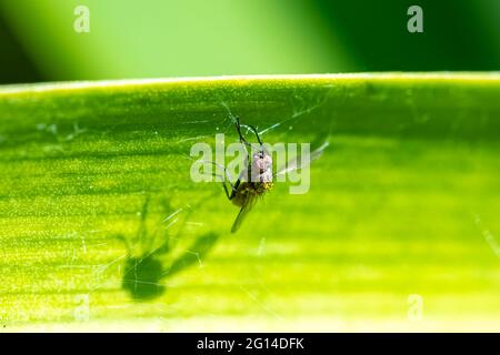
[[[87,6],[90,32],[73,29]],[[407,10],[423,9],[423,33]],[[0,83],[491,71],[498,0],[0,0]]]

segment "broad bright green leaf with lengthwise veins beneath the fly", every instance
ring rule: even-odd
[[[4,329],[498,331],[500,75],[0,89]],[[193,143],[329,142],[238,214]]]

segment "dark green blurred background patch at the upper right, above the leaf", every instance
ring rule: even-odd
[[[498,70],[498,0],[313,0],[329,31],[354,59],[356,71]],[[423,32],[410,33],[411,6]],[[497,19],[497,20],[494,20]],[[331,44],[333,45],[333,44]]]

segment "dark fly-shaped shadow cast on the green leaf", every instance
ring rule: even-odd
[[[146,226],[148,207],[149,199],[144,202],[141,212],[141,223],[138,231],[139,242],[143,242],[146,237],[150,241],[154,240],[156,234],[158,234],[158,231],[149,234]],[[181,210],[178,210],[172,215],[180,212]],[[192,210],[187,213],[187,216],[191,212]],[[174,221],[172,221],[172,223],[174,223]],[[184,224],[181,225],[174,236],[170,236],[168,233],[161,235],[164,237],[164,241],[162,241],[159,246],[152,248],[151,245],[149,245],[147,251],[142,252],[139,256],[133,256],[126,239],[122,236],[120,237],[129,250],[129,256],[126,261],[121,284],[122,288],[128,291],[133,300],[148,301],[161,296],[167,291],[167,286],[162,282],[192,265],[199,264],[201,258],[207,255],[219,239],[219,235],[213,232],[202,234],[196,237],[189,247],[172,260],[176,248],[176,243],[172,243],[172,240],[178,241],[179,237],[181,237],[183,225]],[[152,242],[149,244],[151,243]]]

